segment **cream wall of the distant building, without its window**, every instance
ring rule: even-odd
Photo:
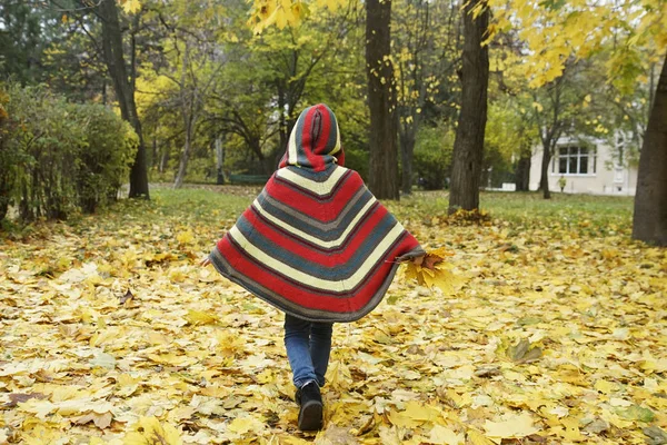
[[[559,147],[577,145],[571,139],[561,139],[558,142]],[[635,190],[637,189],[637,168],[614,167],[611,147],[601,141],[597,141],[595,146],[597,148],[595,172],[560,174],[558,172],[558,165],[556,165],[554,171],[554,162],[558,162],[557,156],[554,156],[549,164],[549,190],[560,191],[558,180],[563,176],[566,181],[564,189],[566,194],[635,196]],[[530,160],[530,190],[539,188],[541,160],[542,150],[541,147],[537,147]]]

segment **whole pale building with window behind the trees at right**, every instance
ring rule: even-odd
[[[624,156],[623,144],[610,146],[606,140],[560,138],[549,162],[549,190],[560,191],[565,179],[566,194],[635,196],[637,166]],[[539,188],[542,148],[537,147],[530,159],[530,190]]]

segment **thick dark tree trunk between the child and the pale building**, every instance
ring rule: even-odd
[[[451,165],[449,209],[479,208],[479,181],[484,155],[484,132],[487,120],[487,88],[489,83],[489,51],[481,46],[485,39],[489,11],[485,7],[472,17],[476,2],[464,10],[464,67],[461,111],[459,113]]]

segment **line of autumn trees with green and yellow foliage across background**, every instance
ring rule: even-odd
[[[323,101],[378,197],[451,181],[450,210],[474,209],[480,186],[527,189],[537,145],[545,178],[564,135],[621,132],[618,156],[637,162],[660,91],[657,0],[597,28],[605,11],[559,1],[257,0],[250,21],[241,0],[121,3],[2,0],[0,68],[117,106],[139,141],[130,196],[219,166],[269,174],[299,111]],[[624,18],[633,7],[644,14]]]

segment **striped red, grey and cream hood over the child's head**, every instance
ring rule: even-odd
[[[318,103],[301,111],[279,168],[295,166],[323,171],[332,165],[345,165],[338,121],[329,107]]]

